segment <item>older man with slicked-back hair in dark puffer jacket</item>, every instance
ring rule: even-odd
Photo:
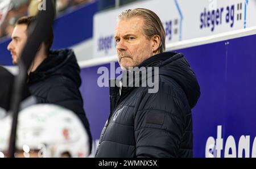
[[[182,53],[164,52],[159,17],[147,9],[126,10],[119,15],[114,38],[125,70],[121,82],[128,85],[110,81],[115,84],[110,86],[111,110],[96,157],[193,157],[191,109],[200,87]],[[134,67],[154,73],[146,78],[139,73],[139,82],[133,81],[138,75]],[[152,79],[158,82],[156,92],[142,85]]]

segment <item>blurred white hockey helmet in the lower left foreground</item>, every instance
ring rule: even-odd
[[[9,143],[11,116],[0,120],[0,157]],[[72,111],[36,104],[19,112],[15,157],[88,157],[89,137]]]

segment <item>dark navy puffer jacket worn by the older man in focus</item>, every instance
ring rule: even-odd
[[[191,109],[200,96],[195,74],[181,53],[161,53],[139,67],[159,67],[159,90],[110,87],[112,111],[96,157],[192,157]]]

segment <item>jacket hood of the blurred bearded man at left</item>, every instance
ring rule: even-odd
[[[71,79],[77,87],[81,85],[80,67],[72,49],[51,50],[48,57],[30,73],[28,83],[42,81],[53,75],[62,75]]]

